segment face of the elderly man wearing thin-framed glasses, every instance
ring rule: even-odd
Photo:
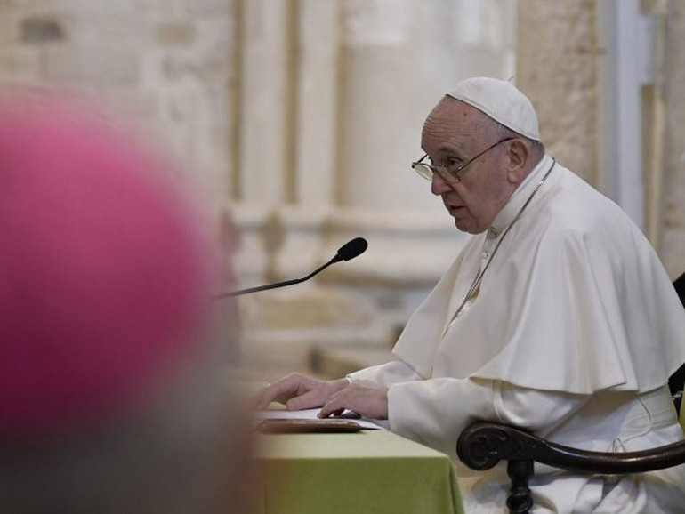
[[[449,97],[441,100],[423,124],[421,146],[434,165],[463,165],[498,141],[496,124],[476,108]],[[507,173],[507,143],[478,157],[447,184],[433,174],[431,192],[442,198],[457,229],[487,230],[512,196],[515,184]]]

